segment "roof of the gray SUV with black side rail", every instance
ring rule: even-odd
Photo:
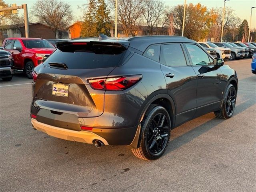
[[[88,41],[97,41],[97,42],[112,42],[120,43],[126,46],[135,48],[141,52],[144,52],[146,48],[152,44],[159,43],[196,43],[194,40],[190,40],[182,36],[136,36],[130,38],[75,38],[71,40],[72,42],[88,42]]]

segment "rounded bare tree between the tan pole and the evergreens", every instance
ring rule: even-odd
[[[58,29],[66,29],[73,19],[70,4],[62,0],[37,0],[32,12],[38,22],[48,25],[56,35]]]

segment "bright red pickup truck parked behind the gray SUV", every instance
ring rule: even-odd
[[[40,38],[6,38],[2,46],[12,53],[14,69],[23,70],[30,79],[34,67],[56,49],[47,40]]]

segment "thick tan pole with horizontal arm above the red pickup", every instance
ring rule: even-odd
[[[16,4],[12,4],[12,7],[2,8],[0,6],[0,15],[4,15],[4,11],[12,10],[12,13],[17,13],[17,9],[24,9],[24,20],[25,20],[25,36],[28,38],[29,29],[28,29],[28,5],[23,4],[21,6],[16,6]]]

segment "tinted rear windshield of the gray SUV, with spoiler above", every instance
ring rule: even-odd
[[[68,69],[96,69],[108,68],[120,65],[126,48],[119,45],[92,44],[68,45],[59,47],[45,61],[49,63],[62,62]]]

